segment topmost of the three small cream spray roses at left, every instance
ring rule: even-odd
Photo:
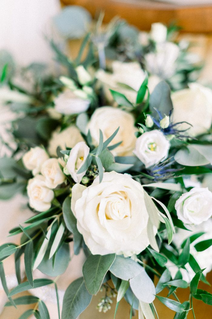
[[[32,171],[33,175],[36,175],[40,173],[43,163],[48,158],[49,156],[46,151],[42,147],[36,146],[31,147],[31,149],[24,154],[22,160],[24,166]]]

